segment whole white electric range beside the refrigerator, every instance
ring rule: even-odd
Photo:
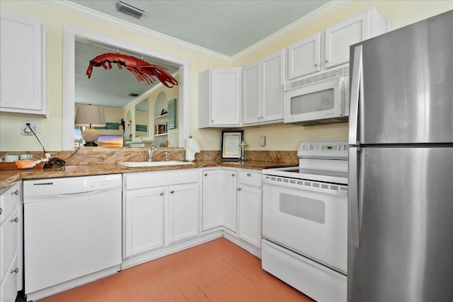
[[[262,266],[316,301],[345,301],[348,142],[301,142],[297,155],[263,170]]]

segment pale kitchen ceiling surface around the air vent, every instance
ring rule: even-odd
[[[118,0],[71,0],[179,40],[233,56],[329,1],[125,1],[149,11],[140,19],[115,9]]]

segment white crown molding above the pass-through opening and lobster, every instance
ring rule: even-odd
[[[55,6],[57,8],[63,9],[64,11],[70,11],[71,13],[76,13],[76,14],[78,14],[80,16],[84,16],[86,18],[91,18],[96,21],[102,21],[105,23],[109,23],[111,25],[114,25],[114,26],[117,26],[120,28],[124,28],[126,30],[130,30],[131,32],[137,33],[139,35],[144,35],[144,36],[156,39],[156,40],[161,40],[168,44],[175,45],[177,47],[183,47],[187,50],[192,50],[194,52],[202,53],[209,57],[214,57],[215,59],[219,59],[224,62],[231,63],[231,57],[226,56],[224,54],[219,54],[218,52],[208,50],[205,47],[200,47],[200,46],[194,45],[192,43],[176,39],[175,37],[171,37],[169,35],[159,33],[155,30],[150,30],[148,28],[144,28],[143,26],[131,23],[129,21],[124,21],[120,18],[110,16],[106,13],[101,13],[100,11],[95,11],[91,8],[87,8],[85,6],[75,4],[74,2],[70,2],[67,0],[38,0],[38,1],[40,1],[43,4],[49,4],[49,5]]]

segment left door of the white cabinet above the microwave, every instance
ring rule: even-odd
[[[321,33],[306,37],[288,47],[288,79],[321,70]]]

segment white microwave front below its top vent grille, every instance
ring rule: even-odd
[[[285,123],[345,117],[345,76],[285,91]]]

